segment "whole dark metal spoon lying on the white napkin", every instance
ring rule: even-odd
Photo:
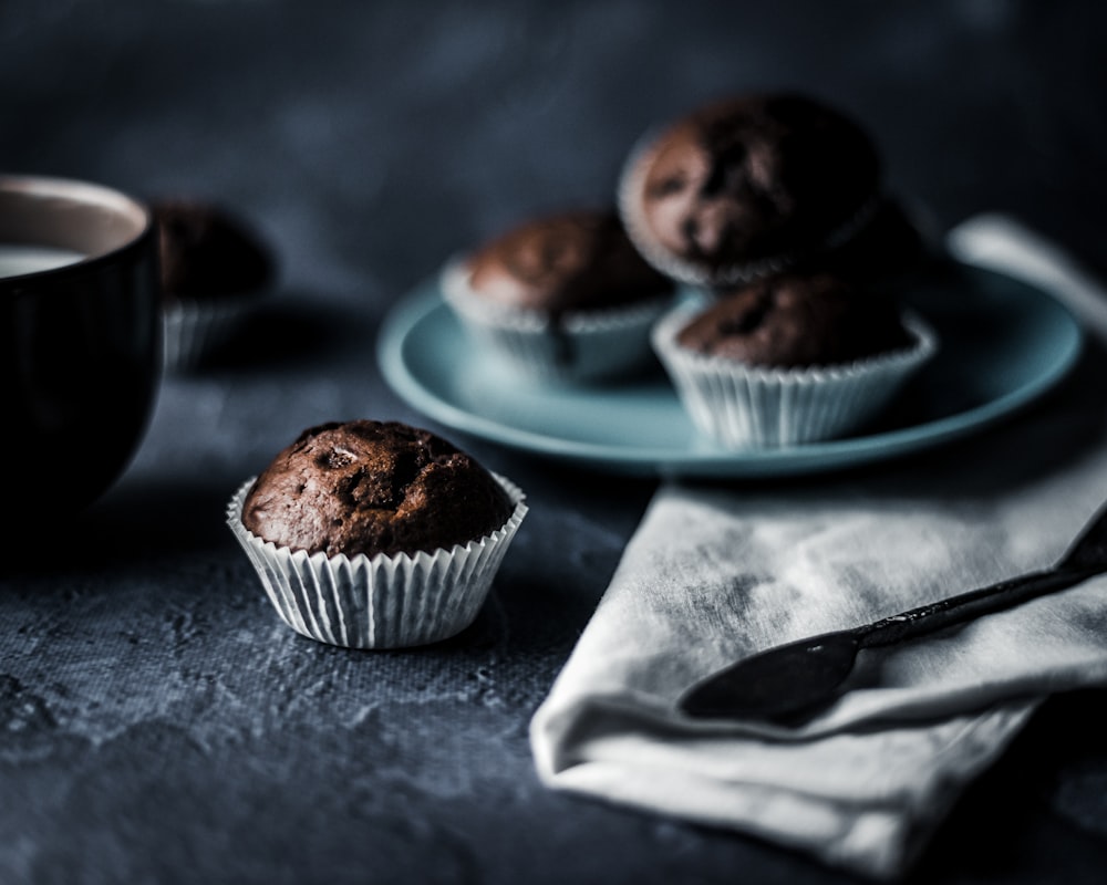
[[[1107,507],[1051,569],[1001,581],[852,629],[824,633],[743,658],[677,701],[696,718],[796,720],[834,700],[862,648],[891,645],[1063,590],[1107,571]]]

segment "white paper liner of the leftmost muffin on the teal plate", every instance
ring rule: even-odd
[[[442,294],[477,346],[520,375],[559,383],[630,373],[652,360],[650,330],[672,298],[603,311],[567,313],[555,323],[544,313],[492,304],[475,294],[462,262],[441,275]]]

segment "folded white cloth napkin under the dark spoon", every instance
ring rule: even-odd
[[[548,785],[893,878],[1042,698],[1107,683],[1105,576],[865,653],[851,690],[795,728],[675,708],[753,652],[1047,568],[1107,500],[1107,294],[1003,217],[961,225],[949,246],[1084,319],[1074,372],[944,452],[779,483],[664,483],[531,722]]]

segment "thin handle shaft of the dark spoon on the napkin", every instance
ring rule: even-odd
[[[1101,571],[1103,568],[1061,566],[1022,574],[877,621],[860,629],[858,643],[862,648],[871,648],[922,636],[980,615],[1017,605],[1055,590],[1063,590]]]

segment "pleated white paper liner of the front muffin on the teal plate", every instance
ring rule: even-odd
[[[671,311],[653,345],[695,427],[728,448],[772,448],[844,436],[883,409],[937,352],[931,327],[907,312],[908,348],[840,366],[768,368],[707,356],[676,342],[695,305]]]

